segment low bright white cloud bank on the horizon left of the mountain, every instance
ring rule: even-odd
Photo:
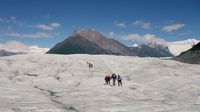
[[[46,53],[49,48],[40,48],[37,45],[28,45],[19,41],[8,41],[0,44],[0,50],[9,52],[23,52],[23,53]]]

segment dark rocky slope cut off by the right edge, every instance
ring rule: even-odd
[[[173,59],[184,63],[200,64],[200,42]]]

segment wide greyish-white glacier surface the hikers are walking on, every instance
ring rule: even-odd
[[[0,112],[200,112],[199,68],[128,56],[1,57]],[[104,85],[112,73],[123,87]]]

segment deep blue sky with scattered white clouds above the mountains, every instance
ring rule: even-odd
[[[53,47],[93,28],[126,45],[200,40],[199,0],[1,0],[0,43]]]

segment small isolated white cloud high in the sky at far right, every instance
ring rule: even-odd
[[[184,26],[185,24],[173,24],[173,25],[163,26],[162,30],[166,32],[172,32],[180,28],[183,28]]]

